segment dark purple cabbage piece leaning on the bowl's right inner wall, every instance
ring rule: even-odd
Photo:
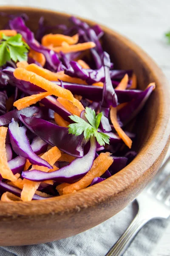
[[[123,125],[126,125],[133,119],[144,107],[147,99],[153,91],[154,86],[147,87],[142,93],[139,94],[134,100],[129,102],[125,107],[118,111],[118,116]]]

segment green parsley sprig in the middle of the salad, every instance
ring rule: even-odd
[[[75,134],[76,136],[78,136],[84,132],[85,139],[89,139],[91,136],[95,136],[97,142],[101,146],[105,145],[105,143],[109,144],[110,137],[102,132],[97,131],[102,118],[102,112],[96,116],[94,110],[91,110],[91,108],[86,107],[85,117],[87,118],[88,122],[86,122],[84,119],[76,115],[69,117],[71,118],[71,120],[75,122],[74,124],[68,125],[69,134]]]

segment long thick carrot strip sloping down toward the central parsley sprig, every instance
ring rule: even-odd
[[[31,71],[25,70],[22,67],[17,67],[14,70],[14,77],[23,81],[31,82],[57,97],[74,100],[74,96],[69,90],[62,88]]]

